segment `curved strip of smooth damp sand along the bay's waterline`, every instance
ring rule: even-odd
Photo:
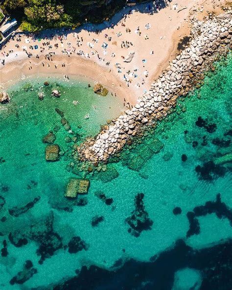
[[[1,87],[6,88],[6,90],[13,84],[22,80],[24,76],[44,76],[45,79],[49,76],[58,76],[60,78],[65,75],[69,75],[70,80],[80,80],[86,83],[90,83],[91,86],[94,86],[94,83],[100,82],[102,83],[109,92],[116,93],[116,96],[120,97],[122,100],[126,98],[130,103],[133,103],[133,94],[132,92],[125,86],[124,83],[117,81],[115,82],[116,76],[113,73],[109,73],[104,68],[99,68],[97,64],[93,64],[90,60],[81,59],[80,57],[70,56],[68,61],[66,59],[66,66],[63,67],[50,67],[49,72],[47,72],[47,68],[42,66],[42,61],[38,61],[36,58],[30,58],[31,65],[33,65],[33,72],[28,70],[27,64],[24,59],[17,62],[10,62],[7,64],[7,72],[1,73]],[[52,63],[58,66],[58,64],[63,63],[64,57],[60,55],[55,55],[53,57]],[[18,68],[20,68],[20,75],[18,72]],[[76,68],[80,70],[80,72],[76,73]],[[8,74],[10,73],[11,78],[7,80]]]

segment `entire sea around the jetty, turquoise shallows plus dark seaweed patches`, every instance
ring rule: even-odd
[[[9,88],[0,105],[0,290],[232,288],[231,56],[215,68],[96,169],[73,148],[120,114],[120,99],[58,77]],[[49,131],[56,162],[45,160]],[[67,199],[71,177],[90,179],[88,194]]]

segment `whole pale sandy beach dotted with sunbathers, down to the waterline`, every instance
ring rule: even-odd
[[[178,53],[190,21],[219,14],[226,2],[176,0],[164,8],[151,2],[150,10],[147,3],[127,7],[100,25],[16,35],[1,49],[0,85],[7,89],[31,74],[77,76],[135,104]]]

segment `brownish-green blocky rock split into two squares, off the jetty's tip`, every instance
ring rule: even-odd
[[[90,181],[87,179],[70,178],[65,193],[66,197],[76,197],[78,193],[88,193]]]

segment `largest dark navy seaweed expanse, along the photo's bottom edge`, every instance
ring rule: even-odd
[[[78,276],[62,281],[52,289],[171,290],[175,272],[186,267],[201,271],[203,281],[200,290],[230,290],[232,240],[200,250],[179,240],[173,248],[152,257],[150,262],[131,259],[114,271],[93,265],[83,266],[76,272]],[[145,284],[145,281],[149,281],[149,284]]]

